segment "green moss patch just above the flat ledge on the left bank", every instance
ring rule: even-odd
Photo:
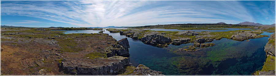
[[[107,55],[105,53],[98,53],[98,52],[92,52],[90,54],[86,54],[85,58],[89,59],[97,59],[97,58],[107,58]]]

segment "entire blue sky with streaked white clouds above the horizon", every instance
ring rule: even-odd
[[[275,1],[1,1],[1,25],[144,26],[275,23]]]

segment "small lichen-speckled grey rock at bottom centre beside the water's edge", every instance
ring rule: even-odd
[[[139,64],[130,75],[163,75],[160,71],[154,71],[143,64]]]

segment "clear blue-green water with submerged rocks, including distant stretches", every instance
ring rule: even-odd
[[[98,33],[98,30],[64,33]],[[126,38],[120,33],[109,33],[106,30],[103,33],[113,36],[116,40]],[[262,33],[269,36],[270,34],[273,33]],[[178,48],[190,46],[192,43],[158,48],[128,37],[130,62],[134,66],[144,64],[152,70],[162,71],[165,75],[251,75],[263,66],[264,46],[268,38],[250,39],[249,42],[223,38],[209,42],[216,44],[213,47],[201,48],[202,50],[195,52],[176,52]]]

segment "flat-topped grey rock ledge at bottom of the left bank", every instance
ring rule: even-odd
[[[65,58],[60,65],[66,74],[112,75],[128,64],[129,58],[116,56],[95,60]]]

